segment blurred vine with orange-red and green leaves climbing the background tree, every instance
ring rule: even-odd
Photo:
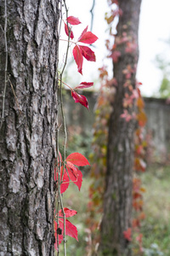
[[[111,61],[116,63],[119,61],[122,53],[119,50],[121,45],[125,44],[125,53],[133,54],[137,45],[133,37],[127,36],[126,32],[122,33],[122,37],[116,37],[115,28],[116,23],[122,10],[119,9],[118,1],[109,1],[111,12],[105,15],[105,20],[109,26],[110,38],[106,40],[105,46],[108,49],[108,57]],[[127,25],[124,25],[126,31]],[[135,87],[132,86],[131,78],[135,67],[130,64],[122,71],[125,77],[123,84],[125,90],[124,100],[122,102],[123,113],[122,119],[129,122],[133,119],[136,123],[135,131],[135,147],[134,147],[134,163],[133,163],[133,223],[132,227],[124,230],[123,235],[127,241],[133,241],[133,253],[139,255],[142,253],[142,234],[140,233],[141,220],[144,219],[143,212],[143,193],[139,172],[145,171],[145,149],[146,142],[144,140],[144,125],[146,123],[146,115],[144,113],[144,101],[140,93],[141,83],[136,81]],[[88,245],[88,250],[91,254],[97,253],[99,247],[99,225],[103,212],[103,197],[105,192],[105,172],[106,172],[106,154],[107,154],[107,141],[109,131],[109,119],[112,111],[112,102],[118,86],[115,78],[109,79],[107,67],[99,68],[100,78],[100,91],[95,110],[94,122],[94,141],[93,148],[94,154],[91,154],[90,160],[94,162],[92,166],[91,177],[93,183],[89,188],[89,204],[88,204],[88,218],[87,224],[91,229],[92,242]],[[135,103],[135,109],[133,104]],[[91,255],[90,254],[90,255]]]

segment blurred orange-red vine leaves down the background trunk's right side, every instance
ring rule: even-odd
[[[126,73],[127,75],[127,73]],[[143,137],[143,128],[147,121],[146,115],[144,113],[144,100],[141,96],[139,85],[141,83],[136,84],[135,91],[130,96],[125,96],[125,101],[123,102],[125,108],[130,108],[134,99],[136,99],[136,105],[138,108],[138,113],[136,115],[131,115],[127,112],[127,109],[124,109],[124,113],[122,113],[122,118],[125,118],[128,122],[130,119],[137,119],[138,121],[138,129],[135,131],[135,151],[134,151],[134,170],[136,172],[144,172],[146,168],[146,164],[144,162],[144,154],[146,142]],[[126,84],[128,87],[128,83]],[[141,186],[141,180],[137,177],[133,178],[133,209],[136,212],[135,218],[133,218],[133,227],[128,228],[123,232],[123,235],[127,241],[132,241],[132,233],[133,230],[139,234],[136,236],[135,240],[139,243],[139,250],[142,251],[142,234],[139,233],[139,227],[141,224],[141,220],[145,218],[143,212],[143,193],[145,189]]]

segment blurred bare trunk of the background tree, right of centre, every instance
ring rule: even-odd
[[[104,217],[101,224],[102,255],[131,255],[129,241],[123,236],[123,231],[131,227],[132,215],[132,185],[133,185],[133,136],[135,121],[127,122],[121,118],[123,113],[123,98],[125,93],[132,94],[128,87],[123,70],[131,67],[130,84],[135,88],[136,65],[138,61],[138,29],[141,0],[119,0],[122,15],[117,26],[116,42],[127,33],[134,47],[126,50],[127,44],[117,44],[116,50],[121,52],[117,62],[114,62],[114,77],[117,81],[116,95],[111,113],[106,188],[104,196]],[[124,34],[125,35],[125,34]],[[128,109],[129,113],[134,110]]]

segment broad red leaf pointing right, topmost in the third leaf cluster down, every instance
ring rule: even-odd
[[[73,165],[76,166],[90,166],[87,158],[85,158],[85,156],[77,152],[69,154],[66,158],[66,161],[70,161]]]

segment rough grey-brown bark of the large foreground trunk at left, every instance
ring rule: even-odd
[[[0,0],[1,256],[54,255],[58,4]]]

